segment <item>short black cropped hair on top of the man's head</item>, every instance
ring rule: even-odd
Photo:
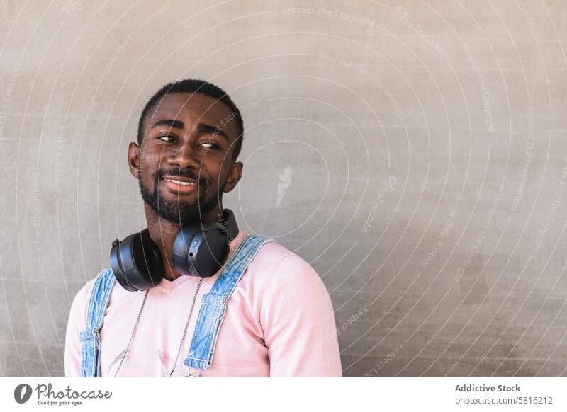
[[[142,143],[142,139],[144,137],[143,124],[147,116],[147,112],[149,112],[150,109],[152,109],[164,96],[173,93],[204,94],[205,96],[210,96],[218,101],[225,103],[225,105],[230,108],[230,110],[232,111],[232,116],[234,117],[234,120],[236,122],[238,132],[234,151],[232,152],[232,161],[236,161],[242,147],[242,139],[244,138],[244,123],[242,122],[242,115],[240,115],[240,110],[238,110],[230,96],[228,96],[228,94],[222,88],[204,80],[184,79],[166,84],[165,86],[160,88],[159,91],[157,91],[157,93],[155,93],[155,95],[152,96],[149,101],[147,101],[144,110],[142,110],[142,114],[140,115],[140,120],[137,125],[138,144]]]

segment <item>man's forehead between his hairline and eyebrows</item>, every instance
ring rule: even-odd
[[[159,120],[181,120],[191,129],[204,123],[223,130],[229,137],[236,138],[238,127],[232,110],[217,99],[193,93],[172,93],[164,96],[147,113],[146,125]]]

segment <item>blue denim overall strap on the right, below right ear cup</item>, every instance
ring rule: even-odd
[[[185,365],[192,369],[190,375],[198,376],[198,370],[206,370],[210,367],[218,331],[225,316],[226,302],[259,248],[273,241],[274,239],[264,239],[257,235],[248,235],[242,239],[225,268],[218,275],[210,292],[203,294],[189,355],[185,359]]]

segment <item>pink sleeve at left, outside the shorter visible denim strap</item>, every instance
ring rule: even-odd
[[[86,325],[86,305],[93,282],[87,282],[75,295],[69,311],[67,331],[65,332],[64,366],[65,377],[81,376],[81,341],[79,333]]]

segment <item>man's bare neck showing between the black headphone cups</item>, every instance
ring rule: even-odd
[[[162,219],[150,206],[144,205],[147,228],[150,231],[150,237],[162,253],[162,260],[164,262],[164,278],[167,280],[176,280],[181,276],[181,273],[175,270],[173,265],[173,244],[175,236],[181,227],[181,224],[169,222],[169,220]],[[215,207],[207,214],[201,217],[202,222],[218,222],[219,215],[222,216],[223,205]],[[200,223],[200,222],[197,222]]]

